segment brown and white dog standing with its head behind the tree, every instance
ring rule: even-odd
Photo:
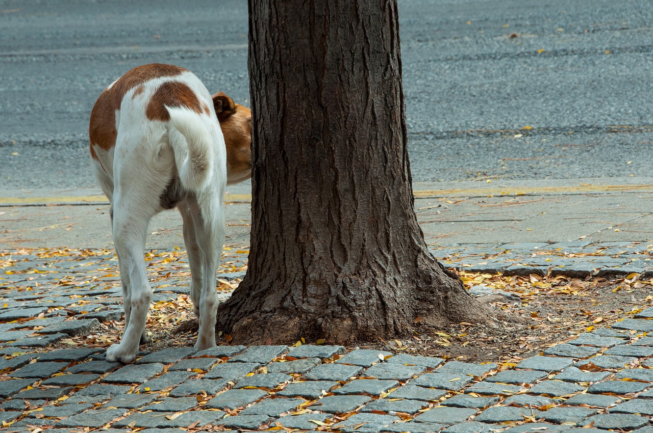
[[[136,67],[104,89],[89,126],[95,176],[109,199],[125,331],[106,352],[130,363],[146,340],[151,288],[143,252],[150,218],[177,207],[199,317],[195,348],[215,346],[215,271],[225,238],[225,184],[251,176],[251,112],[210,95],[172,65]]]

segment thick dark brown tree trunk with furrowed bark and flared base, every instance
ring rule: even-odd
[[[478,321],[415,217],[396,0],[249,0],[248,62],[251,249],[217,329],[348,344]]]

